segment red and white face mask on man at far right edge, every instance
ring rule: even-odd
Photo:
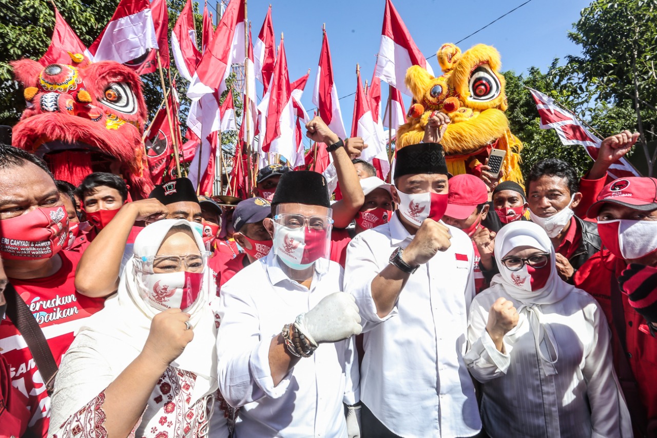
[[[598,233],[602,245],[625,260],[641,258],[657,251],[655,220],[599,220]]]

